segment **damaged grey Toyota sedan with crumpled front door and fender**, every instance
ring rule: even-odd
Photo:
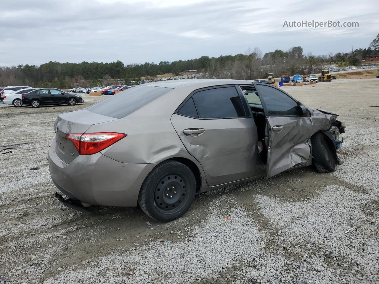
[[[196,194],[342,161],[345,124],[268,84],[240,80],[161,81],[60,114],[49,150],[66,206],[137,206],[167,222]]]

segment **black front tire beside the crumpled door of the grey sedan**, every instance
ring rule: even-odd
[[[319,173],[330,173],[335,170],[335,159],[326,142],[326,137],[318,132],[311,137],[313,165]]]

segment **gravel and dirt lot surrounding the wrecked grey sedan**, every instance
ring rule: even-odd
[[[283,87],[340,114],[345,164],[200,194],[166,224],[138,208],[89,216],[54,197],[53,122],[104,97],[0,108],[0,282],[379,283],[378,88],[377,79]]]

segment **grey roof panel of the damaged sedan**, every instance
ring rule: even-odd
[[[229,84],[252,84],[252,81],[244,80],[232,80],[232,79],[190,79],[190,80],[169,80],[169,81],[158,81],[152,83],[141,84],[139,86],[155,86],[155,87],[166,87],[175,89],[177,87],[192,85],[196,89],[196,85],[200,88],[210,87],[217,85],[229,85]]]

